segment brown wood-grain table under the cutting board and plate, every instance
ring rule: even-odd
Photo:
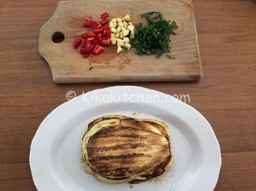
[[[204,78],[176,83],[53,83],[38,53],[39,29],[57,1],[0,1],[0,190],[36,190],[29,168],[31,140],[43,118],[77,95],[113,85],[137,85],[191,97],[211,123],[223,165],[215,190],[256,190],[256,4],[196,0]],[[207,190],[206,190],[207,191]]]

